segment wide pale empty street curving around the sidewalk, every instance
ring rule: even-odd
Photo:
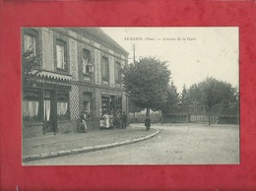
[[[139,124],[142,125],[142,124]],[[28,165],[238,164],[239,126],[154,125],[160,134],[117,148],[27,162]]]

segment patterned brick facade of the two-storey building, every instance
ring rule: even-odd
[[[89,129],[103,113],[127,112],[121,84],[125,51],[99,28],[27,28],[23,55],[39,58],[32,86],[23,87],[23,136],[77,131],[81,112]],[[25,75],[25,74],[24,74]]]

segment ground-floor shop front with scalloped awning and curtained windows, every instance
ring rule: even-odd
[[[57,78],[58,77],[58,78]],[[37,137],[59,132],[60,123],[70,122],[70,77],[43,72],[32,78],[23,91],[23,136]],[[61,129],[61,131],[63,131]]]

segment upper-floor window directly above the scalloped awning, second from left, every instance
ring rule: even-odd
[[[56,40],[56,60],[57,68],[67,70],[67,55],[66,55],[66,42]]]

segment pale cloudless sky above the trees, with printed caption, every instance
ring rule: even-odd
[[[167,61],[179,93],[213,77],[239,86],[238,28],[101,28],[126,51],[128,62],[156,56]]]

